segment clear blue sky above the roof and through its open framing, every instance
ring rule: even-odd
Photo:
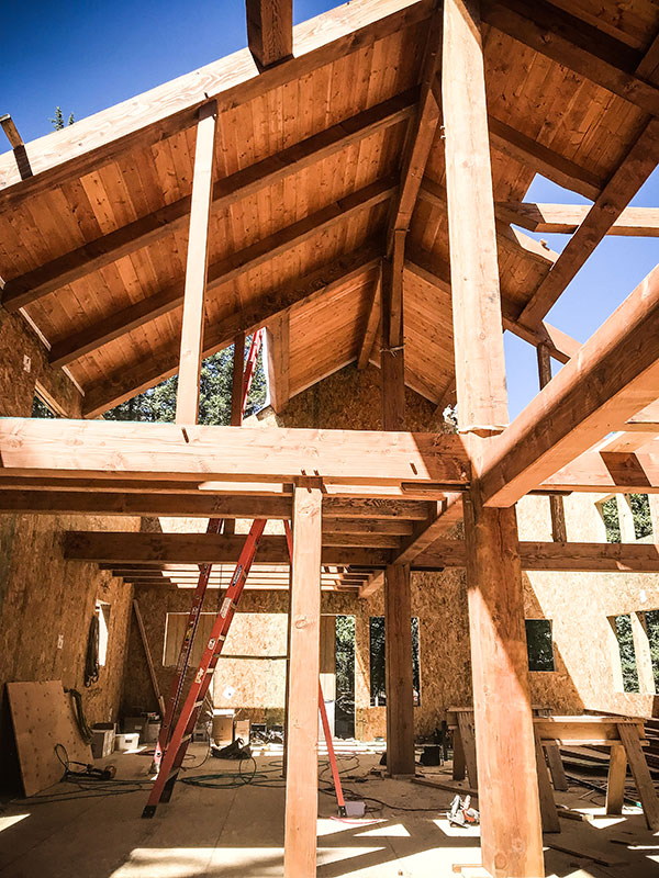
[[[334,5],[335,0],[293,0],[295,23]],[[11,113],[26,142],[52,130],[57,105],[81,119],[247,43],[243,0],[4,0],[2,12],[11,40],[2,47],[0,114]],[[539,178],[528,200],[588,203]],[[632,204],[659,205],[659,170]],[[559,252],[568,239],[536,237]],[[657,238],[606,238],[547,319],[584,341],[657,261]],[[506,333],[505,351],[514,417],[537,392],[535,349]]]

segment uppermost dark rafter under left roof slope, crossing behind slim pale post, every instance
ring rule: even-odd
[[[412,115],[417,97],[418,90],[410,89],[230,177],[216,180],[213,184],[212,210],[225,211],[236,201],[299,173],[365,137],[399,124]],[[189,213],[188,195],[25,274],[10,279],[3,291],[2,303],[8,311],[24,307],[185,228]]]

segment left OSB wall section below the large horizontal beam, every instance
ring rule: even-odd
[[[82,693],[90,723],[116,720],[132,586],[94,564],[66,561],[63,540],[69,529],[138,529],[138,521],[0,516],[0,747],[13,747],[4,687],[11,680],[62,679],[66,688]],[[97,599],[110,605],[108,656],[98,683],[85,688],[87,639]]]

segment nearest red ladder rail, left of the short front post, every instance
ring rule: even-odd
[[[188,697],[186,698],[178,718],[176,729],[174,730],[174,734],[171,735],[171,740],[163,757],[160,772],[154,783],[148,802],[142,812],[143,818],[153,817],[156,813],[158,803],[160,801],[169,801],[171,797],[174,784],[176,783],[176,778],[186,756],[199,711],[203,705],[205,694],[209,690],[213,672],[220,660],[226,634],[228,633],[265,527],[265,519],[255,520],[245,540],[245,545],[241,552],[238,563],[236,564],[231,583],[222,600],[222,606],[213,623],[209,641],[201,656],[199,668],[194,675],[190,691],[188,693]]]

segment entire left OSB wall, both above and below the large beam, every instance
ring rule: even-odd
[[[30,371],[23,357],[30,357]],[[0,307],[0,416],[29,417],[35,382],[69,416],[80,394],[19,315]],[[138,530],[138,518],[0,515],[0,748],[12,752],[4,684],[62,679],[82,693],[90,723],[119,713],[132,587],[94,564],[65,561],[66,530]],[[107,663],[99,682],[83,685],[89,626],[97,599],[110,605]]]

